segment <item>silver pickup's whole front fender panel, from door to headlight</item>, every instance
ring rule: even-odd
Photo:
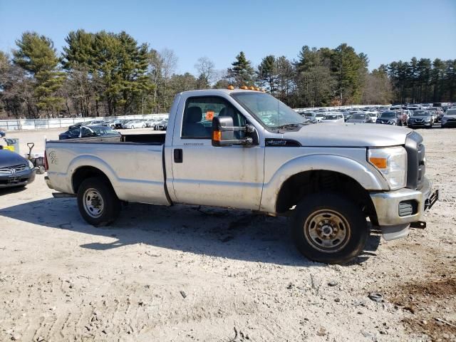
[[[363,147],[267,147],[260,210],[275,212],[281,185],[292,175],[309,170],[340,172],[366,190],[388,190],[380,172],[365,160]]]

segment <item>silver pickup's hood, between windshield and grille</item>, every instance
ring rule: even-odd
[[[342,125],[306,125],[296,132],[284,133],[285,139],[303,146],[383,147],[404,145],[409,128],[394,125],[343,123]]]

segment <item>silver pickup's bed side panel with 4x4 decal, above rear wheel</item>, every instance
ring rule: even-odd
[[[165,194],[162,145],[48,142],[48,176],[54,189],[74,193],[72,178],[80,167],[96,167],[120,199],[169,205]]]

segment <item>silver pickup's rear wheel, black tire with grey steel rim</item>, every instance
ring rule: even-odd
[[[86,222],[101,227],[117,219],[120,200],[107,180],[103,177],[91,177],[84,180],[78,188],[78,208]]]

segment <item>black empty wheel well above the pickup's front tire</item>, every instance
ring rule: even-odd
[[[373,224],[378,224],[375,207],[369,192],[352,177],[326,170],[300,172],[289,177],[282,184],[277,196],[276,212],[283,214],[298,204],[305,196],[323,191],[336,192],[347,196],[363,210],[366,217],[371,217]]]

